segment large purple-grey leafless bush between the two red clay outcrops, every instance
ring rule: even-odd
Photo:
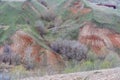
[[[51,48],[67,60],[81,61],[87,58],[87,47],[77,41],[57,40],[51,44]]]

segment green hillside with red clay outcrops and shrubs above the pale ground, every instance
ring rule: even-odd
[[[0,2],[0,61],[13,79],[119,67],[119,12],[89,0]]]

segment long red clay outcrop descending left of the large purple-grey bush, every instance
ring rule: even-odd
[[[24,59],[26,53],[30,53],[35,62],[39,64],[45,63],[44,60],[46,60],[46,64],[53,68],[64,66],[64,61],[60,55],[42,48],[29,34],[22,30],[16,31],[11,40],[13,42],[11,44],[12,51],[21,55],[22,59]],[[0,52],[3,52],[3,47],[0,48]]]

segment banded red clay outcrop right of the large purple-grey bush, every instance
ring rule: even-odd
[[[108,49],[120,48],[120,34],[107,28],[97,27],[92,22],[80,28],[79,41],[91,48],[98,55],[108,53]]]

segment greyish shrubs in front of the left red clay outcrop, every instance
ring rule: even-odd
[[[5,44],[3,46],[3,52],[0,54],[1,63],[9,63],[9,65],[20,65],[22,64],[26,69],[33,69],[35,67],[34,59],[31,57],[31,50],[26,50],[25,56],[22,59],[21,55],[14,53],[11,46]]]

